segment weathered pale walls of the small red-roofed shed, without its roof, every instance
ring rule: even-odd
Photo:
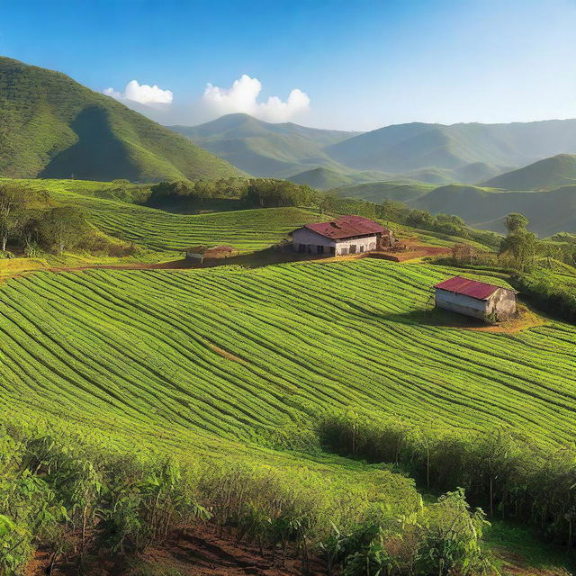
[[[516,294],[500,288],[488,300],[478,300],[464,294],[456,294],[441,288],[436,289],[436,305],[439,308],[486,320],[493,312],[499,320],[516,312]]]

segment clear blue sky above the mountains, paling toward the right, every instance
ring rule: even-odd
[[[166,123],[576,117],[576,0],[0,0],[0,54]]]

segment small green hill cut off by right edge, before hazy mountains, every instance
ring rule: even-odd
[[[558,154],[483,183],[507,190],[542,190],[576,184],[576,155]]]

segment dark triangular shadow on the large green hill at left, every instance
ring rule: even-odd
[[[76,144],[53,157],[40,178],[138,180],[139,171],[130,160],[126,145],[114,134],[106,110],[87,106],[72,121],[70,128],[76,133]]]

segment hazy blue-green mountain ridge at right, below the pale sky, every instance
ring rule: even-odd
[[[502,171],[500,166],[526,166],[554,154],[576,153],[576,120],[398,124],[331,144],[324,151],[358,170],[396,174],[428,168],[464,170],[460,174],[468,180],[485,170]],[[475,169],[478,173],[473,174]]]

